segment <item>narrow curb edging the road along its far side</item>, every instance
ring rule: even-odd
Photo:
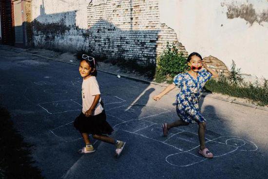
[[[41,58],[46,58],[46,59],[50,59],[50,60],[53,60],[53,61],[58,61],[58,62],[61,62],[61,63],[67,63],[67,64],[77,66],[76,64],[71,63],[71,62],[61,61],[61,60],[57,60],[57,59],[54,59],[54,58],[50,58],[50,57],[42,56],[42,55],[38,55],[38,54],[31,54],[31,53],[28,53],[28,52],[20,52],[20,51],[16,51],[16,50],[2,49],[2,48],[0,48],[0,50],[6,50],[6,51],[17,52],[17,53],[22,53],[22,54],[34,55],[34,56],[38,56],[38,57],[41,57]],[[107,72],[107,71],[104,71],[104,70],[98,70],[98,71],[108,73],[108,74],[118,75],[117,73]],[[153,81],[143,80],[143,79],[139,79],[139,78],[123,75],[123,74],[120,75],[120,76],[123,77],[123,78],[127,78],[127,79],[134,80],[134,81],[139,81],[139,82],[146,83],[146,84],[153,84],[153,85],[157,85],[157,86],[161,86],[161,87],[167,87],[168,86],[166,84],[160,84],[160,83],[156,83],[156,82],[153,82]],[[268,111],[267,107],[260,107],[260,106],[251,105],[251,104],[248,104],[248,103],[241,103],[241,102],[237,102],[237,101],[233,101],[233,100],[227,100],[227,99],[224,99],[224,98],[217,98],[217,97],[211,96],[210,93],[203,93],[202,97],[209,97],[209,98],[213,98],[213,99],[217,99],[217,100],[220,100],[220,101],[225,101],[225,102],[229,102],[229,103],[233,103],[233,104],[237,104],[237,105],[241,105],[241,106],[245,106],[245,107],[251,107],[251,108],[255,108],[255,109]]]

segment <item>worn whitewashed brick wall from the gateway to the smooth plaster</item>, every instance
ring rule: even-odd
[[[155,61],[169,41],[187,54],[176,33],[160,23],[158,0],[32,0],[32,6],[37,47]]]

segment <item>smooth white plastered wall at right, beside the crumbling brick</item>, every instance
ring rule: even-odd
[[[250,3],[257,14],[268,12],[268,0],[159,0],[160,21],[189,54],[212,55],[228,67],[234,60],[242,73],[268,79],[268,22],[251,25],[226,15],[228,5]]]

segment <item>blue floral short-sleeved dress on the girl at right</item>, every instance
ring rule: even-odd
[[[212,74],[205,69],[198,72],[197,79],[188,72],[179,73],[174,77],[173,84],[180,88],[176,95],[176,110],[181,120],[196,124],[206,122],[199,111],[199,100],[205,83]]]

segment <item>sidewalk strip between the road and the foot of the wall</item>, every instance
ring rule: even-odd
[[[8,45],[0,45],[0,49],[12,51],[12,52],[24,53],[24,54],[31,54],[31,55],[35,55],[38,57],[42,57],[42,58],[46,58],[50,60],[56,60],[59,62],[68,63],[68,64],[72,64],[76,66],[78,66],[79,64],[79,61],[77,60],[75,54],[68,53],[68,52],[62,53],[62,52],[55,52],[52,50],[37,49],[37,48],[21,49],[21,48],[17,48],[13,46],[8,46]],[[152,80],[148,79],[146,76],[135,73],[134,71],[126,72],[125,70],[120,69],[118,66],[112,65],[110,63],[98,62],[98,64],[99,64],[98,71],[101,71],[101,72],[106,72],[106,73],[113,74],[113,75],[120,75],[120,77],[125,77],[125,78],[129,78],[132,80],[148,83],[148,84],[159,85],[162,87],[168,86],[167,83],[153,82]],[[261,107],[256,104],[252,104],[250,103],[248,99],[232,97],[232,96],[223,95],[219,93],[207,93],[207,92],[204,92],[203,96],[214,98],[214,99],[221,100],[221,101],[226,101],[229,103],[234,103],[238,105],[243,105],[243,106],[252,107],[255,109],[268,111],[268,106]]]

